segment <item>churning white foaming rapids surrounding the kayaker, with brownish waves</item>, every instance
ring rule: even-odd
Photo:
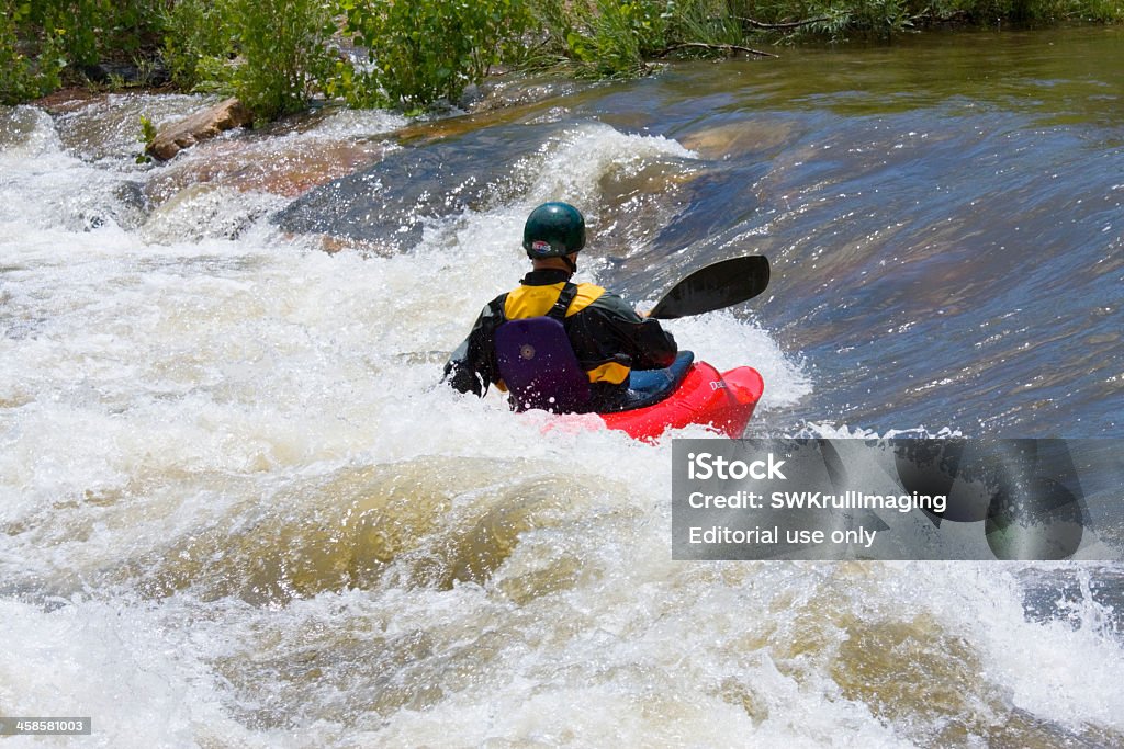
[[[713,435],[640,444],[438,383],[522,275],[529,205],[692,152],[582,126],[520,199],[329,254],[271,222],[288,197],[136,199],[160,167],[134,118],[205,103],[0,109],[0,714],[90,716],[81,746],[115,748],[1124,736],[1113,619],[1028,621],[1022,566],[676,563],[671,439]],[[668,327],[762,372],[753,433],[821,386],[752,311]]]

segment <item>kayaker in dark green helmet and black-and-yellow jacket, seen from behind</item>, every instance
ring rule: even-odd
[[[533,210],[523,229],[523,248],[531,258],[531,272],[519,286],[483,308],[468,338],[445,364],[444,381],[462,393],[480,396],[493,384],[506,391],[497,358],[497,330],[510,320],[549,317],[552,311],[562,322],[589,386],[588,400],[584,393],[573,402],[551,395],[547,399],[551,405],[544,408],[587,412],[618,410],[627,398],[633,369],[670,366],[676,360],[676,340],[658,320],[642,318],[623,299],[601,286],[570,282],[578,270],[578,254],[584,246],[586,219],[577,208],[550,202]],[[520,347],[525,355],[528,349],[533,355],[534,347],[526,344]],[[558,359],[537,357],[534,360]],[[553,373],[545,374],[549,380]],[[580,384],[584,391],[583,378]]]

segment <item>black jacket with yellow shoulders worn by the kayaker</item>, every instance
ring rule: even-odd
[[[518,289],[490,301],[469,337],[450,356],[444,380],[462,393],[481,396],[491,384],[502,389],[493,344],[496,329],[508,320],[546,314],[569,278],[565,271],[532,271]],[[623,299],[591,283],[578,284],[563,326],[589,375],[593,410],[624,396],[633,368],[659,369],[676,358],[676,339],[659,321],[641,318]]]

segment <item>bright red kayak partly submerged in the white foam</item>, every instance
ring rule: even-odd
[[[706,362],[696,362],[676,391],[653,405],[598,414],[609,429],[629,437],[654,440],[668,429],[690,424],[710,426],[738,438],[761,400],[764,381],[753,367],[718,373]]]

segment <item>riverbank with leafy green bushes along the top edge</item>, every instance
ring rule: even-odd
[[[63,86],[236,95],[263,122],[312,100],[420,112],[460,106],[498,67],[633,77],[668,60],[762,57],[792,44],[890,43],[931,28],[1115,24],[1107,0],[867,3],[685,0],[3,0],[0,103]]]

